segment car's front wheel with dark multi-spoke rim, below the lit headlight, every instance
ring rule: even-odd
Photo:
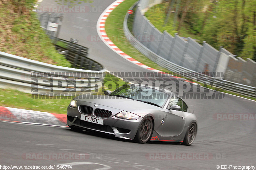
[[[146,117],[139,126],[135,135],[135,142],[145,144],[150,139],[153,132],[153,121],[150,116]]]

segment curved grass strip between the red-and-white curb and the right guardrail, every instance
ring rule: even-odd
[[[126,15],[126,12],[129,10],[129,8],[132,6],[132,4],[134,4],[136,1],[137,0],[126,0],[126,1],[122,2],[120,5],[118,5],[110,13],[110,15],[108,16],[108,18],[106,20],[106,25],[105,25],[106,33],[107,33],[108,37],[110,38],[110,40],[119,49],[124,51],[124,53],[130,55],[132,58],[136,59],[140,63],[143,63],[143,64],[145,64],[149,67],[152,67],[154,69],[169,73],[170,70],[167,70],[166,68],[159,66],[158,64],[156,64],[153,61],[151,61],[150,59],[148,59],[148,57],[141,54],[136,48],[134,48],[130,44],[130,42],[126,39],[126,37],[124,35],[124,30],[123,30],[124,17]],[[132,15],[134,15],[134,14],[132,14]],[[131,17],[131,18],[133,18],[133,17]],[[131,20],[128,21],[128,24],[131,24],[131,23],[132,23]],[[128,25],[128,27],[130,27],[130,29],[131,29],[131,26]],[[187,78],[187,79],[189,80],[189,78]],[[203,83],[200,83],[200,82],[196,82],[196,83],[198,83],[204,87],[207,87],[209,89],[216,90],[215,87],[209,87],[208,85],[204,85]],[[241,95],[241,94],[238,94],[235,92],[223,90],[223,89],[221,90],[221,92],[233,94],[233,95],[244,97],[244,98],[251,99],[251,100],[256,100],[255,98],[247,97],[247,96],[244,96],[244,95]]]

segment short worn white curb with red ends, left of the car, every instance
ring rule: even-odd
[[[67,127],[67,115],[0,106],[0,121]]]

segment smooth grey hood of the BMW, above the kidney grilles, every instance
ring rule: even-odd
[[[124,110],[127,112],[134,112],[141,109],[161,109],[148,103],[144,103],[137,100],[126,99],[122,97],[116,97],[115,99],[101,99],[100,97],[95,99],[78,99],[79,101],[89,102],[93,104],[103,105],[107,107]]]

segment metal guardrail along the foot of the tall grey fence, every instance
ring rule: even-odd
[[[137,3],[138,2],[133,4],[132,7],[130,8],[130,10],[132,10]],[[143,55],[147,56],[153,62],[157,63],[158,65],[160,65],[164,68],[167,68],[168,70],[179,73],[180,76],[192,78],[197,81],[199,80],[199,81],[202,81],[203,83],[207,83],[207,84],[215,83],[222,89],[236,92],[236,93],[239,93],[239,94],[242,94],[245,96],[249,96],[249,97],[254,97],[254,98],[256,97],[256,87],[242,85],[242,84],[230,82],[230,81],[219,79],[219,78],[213,78],[213,77],[207,76],[205,74],[198,73],[193,70],[189,70],[187,68],[184,68],[182,66],[174,64],[174,63],[164,59],[163,57],[157,55],[153,51],[149,50],[140,41],[138,41],[130,32],[130,30],[127,26],[127,20],[128,20],[129,15],[130,15],[129,13],[126,13],[125,18],[124,18],[124,24],[123,24],[124,34],[125,34],[126,38],[133,45],[134,48],[138,49]],[[195,77],[195,75],[196,75],[196,77]]]

